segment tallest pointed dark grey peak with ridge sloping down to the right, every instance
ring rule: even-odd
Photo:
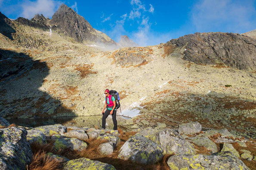
[[[108,45],[117,45],[107,35],[95,30],[88,21],[78,15],[73,9],[62,4],[59,9],[52,15],[49,21],[52,28],[57,28],[66,35],[72,37],[80,43],[105,43]],[[108,37],[108,38],[107,38]]]

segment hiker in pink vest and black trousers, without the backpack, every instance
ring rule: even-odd
[[[112,115],[112,120],[114,123],[114,130],[117,130],[117,109],[116,107],[116,100],[114,98],[114,96],[109,94],[109,89],[105,90],[105,105],[104,108],[102,110],[102,128],[106,128],[106,119],[108,117],[109,114]],[[107,108],[107,110],[104,112],[105,108]]]

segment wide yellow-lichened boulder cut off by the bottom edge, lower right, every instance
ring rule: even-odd
[[[212,155],[173,155],[167,164],[171,170],[249,170],[230,152],[216,152]]]

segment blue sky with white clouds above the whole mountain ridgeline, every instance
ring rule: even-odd
[[[11,19],[52,18],[62,3],[114,41],[127,35],[142,46],[196,32],[256,29],[256,0],[0,0],[0,12]]]

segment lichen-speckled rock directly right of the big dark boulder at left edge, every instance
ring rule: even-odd
[[[28,130],[27,140],[30,144],[37,142],[39,144],[46,144],[46,137],[41,131]]]

